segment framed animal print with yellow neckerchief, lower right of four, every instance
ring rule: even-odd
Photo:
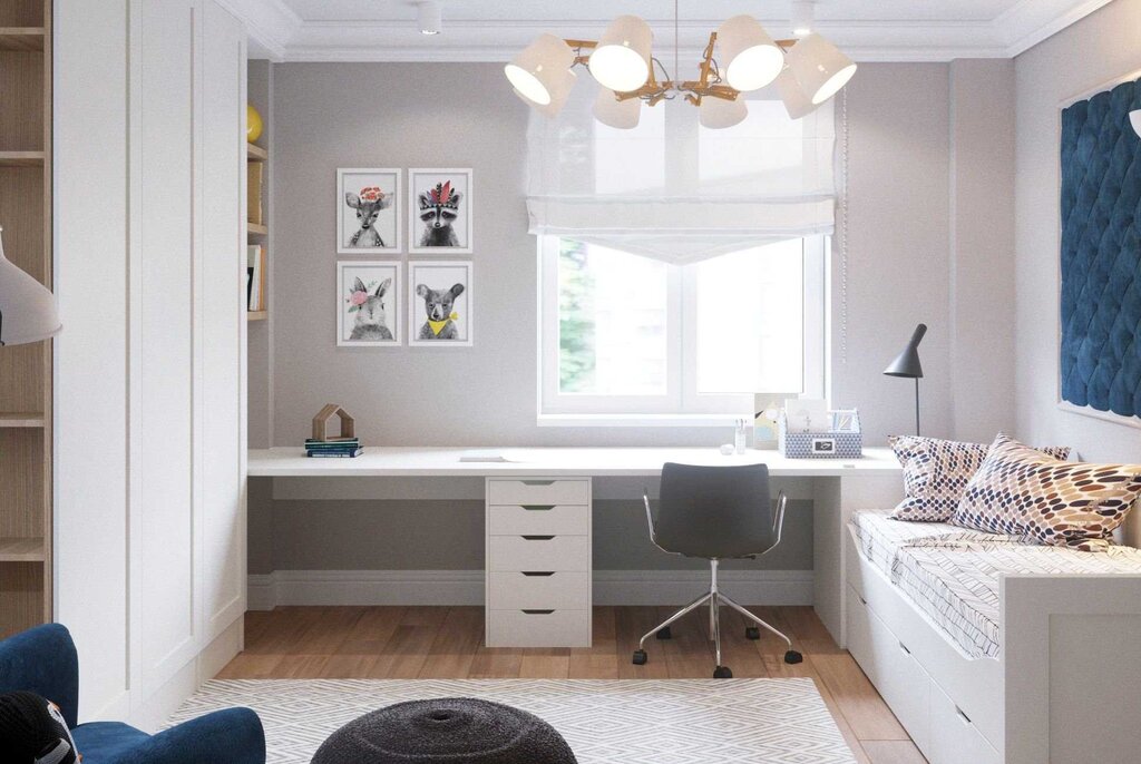
[[[471,263],[408,263],[408,344],[421,348],[471,347]]]

